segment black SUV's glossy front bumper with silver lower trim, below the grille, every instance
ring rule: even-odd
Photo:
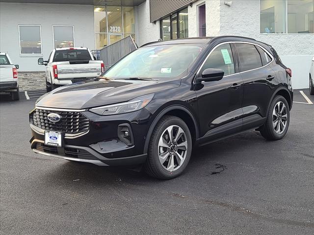
[[[144,145],[151,114],[145,108],[112,116],[99,116],[89,111],[81,113],[89,119],[89,130],[77,136],[64,135],[62,147],[45,145],[45,130],[30,123],[31,149],[47,156],[96,165],[136,165],[146,161]],[[31,116],[32,112],[30,121]],[[130,127],[132,141],[129,144],[119,139],[121,125]]]

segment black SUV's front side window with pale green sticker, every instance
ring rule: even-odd
[[[233,53],[230,44],[223,44],[214,49],[204,66],[202,67],[199,75],[206,69],[220,69],[225,71],[225,76],[235,73],[235,64]]]

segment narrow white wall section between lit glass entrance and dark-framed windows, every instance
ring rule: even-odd
[[[159,21],[150,23],[149,0],[135,7],[135,18],[137,46],[160,39]]]

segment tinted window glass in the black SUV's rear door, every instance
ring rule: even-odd
[[[240,71],[248,71],[262,67],[260,53],[252,44],[235,43],[239,54]]]

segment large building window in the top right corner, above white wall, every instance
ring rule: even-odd
[[[261,33],[313,33],[314,0],[260,0]]]

